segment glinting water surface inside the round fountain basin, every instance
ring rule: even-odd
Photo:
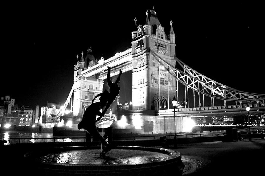
[[[98,164],[98,165],[135,165],[159,162],[169,159],[169,155],[143,150],[112,149],[105,158],[100,157],[100,150],[71,150],[55,154],[47,154],[37,158],[43,162],[68,164]]]

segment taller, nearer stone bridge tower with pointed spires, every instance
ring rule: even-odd
[[[136,25],[136,19],[135,19]],[[171,100],[176,95],[176,83],[165,68],[151,55],[175,65],[175,33],[170,22],[170,34],[164,31],[156,12],[146,11],[145,25],[132,32],[132,104],[133,109],[172,109]]]

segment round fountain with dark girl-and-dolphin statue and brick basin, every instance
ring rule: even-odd
[[[102,146],[50,147],[27,152],[24,157],[32,163],[41,175],[182,175],[184,164],[179,152],[164,148],[115,146],[108,143],[97,131],[96,121],[104,116],[107,108],[115,100],[120,88],[110,80],[108,68],[108,85],[110,92],[97,95],[100,101],[87,108],[78,129],[85,129],[90,135],[100,140]],[[108,102],[108,103],[107,103]],[[106,106],[106,107],[105,107]],[[99,110],[105,107],[101,113]],[[98,118],[96,118],[98,116]],[[75,143],[76,144],[76,143]],[[99,152],[100,151],[100,152]]]

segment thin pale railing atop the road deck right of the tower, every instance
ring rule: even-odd
[[[204,110],[217,110],[217,109],[236,109],[236,108],[246,108],[246,107],[265,107],[265,103],[254,103],[254,104],[241,104],[241,105],[226,105],[226,106],[205,106],[205,107],[195,107],[195,108],[176,108],[176,112],[183,112],[183,111],[204,111]],[[165,109],[159,110],[160,113],[165,112],[174,112],[174,109]]]

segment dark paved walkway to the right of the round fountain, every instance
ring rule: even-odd
[[[171,148],[172,149],[172,148]],[[265,140],[179,144],[183,175],[264,175]]]

